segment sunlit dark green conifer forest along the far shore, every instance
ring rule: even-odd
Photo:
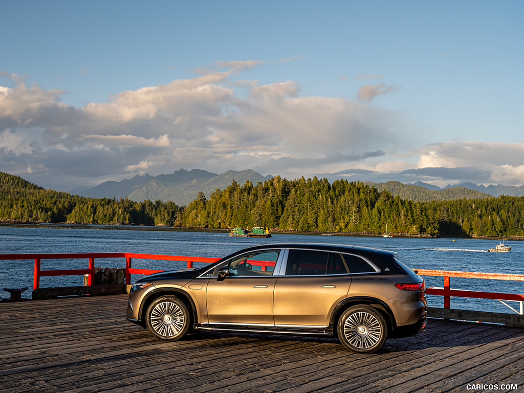
[[[369,184],[327,179],[233,182],[187,206],[160,200],[86,198],[46,190],[0,172],[3,222],[160,225],[198,228],[254,226],[281,231],[424,236],[524,236],[524,197],[413,202]]]

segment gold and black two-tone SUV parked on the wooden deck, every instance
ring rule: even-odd
[[[264,244],[199,269],[137,280],[126,318],[162,340],[191,331],[337,337],[359,353],[425,329],[424,280],[394,252]]]

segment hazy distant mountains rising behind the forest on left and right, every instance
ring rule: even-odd
[[[223,190],[235,180],[240,185],[249,180],[253,184],[264,182],[272,176],[262,176],[251,169],[243,171],[228,171],[216,174],[200,169],[187,171],[180,169],[172,174],[137,175],[132,179],[120,182],[106,181],[93,188],[74,188],[71,194],[89,196],[91,198],[125,198],[126,196],[136,202],[146,199],[163,202],[173,201],[179,206],[187,205],[202,191],[209,198],[216,189]],[[514,187],[509,185],[477,185],[474,183],[461,183],[447,185],[440,188],[433,184],[418,181],[413,184],[403,184],[398,181],[368,184],[378,190],[387,190],[392,195],[399,195],[402,199],[411,199],[416,202],[452,199],[483,199],[490,196],[510,195],[524,196],[524,185]]]

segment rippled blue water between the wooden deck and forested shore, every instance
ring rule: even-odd
[[[89,228],[0,227],[0,254],[29,253],[109,253],[223,257],[257,243],[308,242],[339,243],[384,248],[397,252],[397,258],[412,269],[478,271],[524,274],[524,242],[508,241],[509,253],[488,253],[498,242],[462,238],[384,238],[273,234],[271,238],[229,237],[226,232],[178,231],[157,227],[93,226]],[[34,261],[0,260],[0,296],[9,297],[3,288],[29,287],[23,297],[30,298]],[[95,266],[125,267],[124,258],[95,259]],[[184,263],[133,259],[133,267],[169,270]],[[88,260],[42,260],[41,269],[86,269]],[[133,280],[139,276],[133,276]],[[428,287],[443,286],[442,277],[424,277]],[[41,277],[40,287],[82,285],[81,276]],[[489,292],[524,293],[524,282],[451,278],[451,287]],[[431,307],[442,307],[442,297],[428,297]],[[518,303],[508,302],[518,309]],[[513,312],[497,300],[452,298],[452,308]]]

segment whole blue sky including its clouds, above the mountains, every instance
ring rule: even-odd
[[[524,184],[524,3],[5,1],[0,170]]]

